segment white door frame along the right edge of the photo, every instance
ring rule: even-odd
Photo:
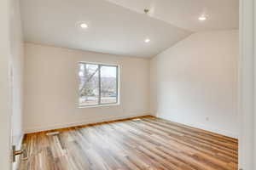
[[[240,59],[239,59],[239,168],[256,170],[256,59],[254,41],[256,40],[256,0],[240,0]],[[255,17],[254,17],[255,16]],[[255,88],[256,89],[256,88]],[[254,140],[254,141],[253,141]],[[254,144],[253,144],[254,143]]]

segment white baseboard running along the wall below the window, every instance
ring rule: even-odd
[[[91,120],[83,120],[80,122],[66,122],[66,123],[61,123],[57,125],[50,125],[50,126],[45,126],[45,127],[30,127],[25,129],[25,133],[38,133],[42,131],[47,131],[47,130],[54,130],[54,129],[59,129],[59,128],[66,128],[66,127],[76,127],[76,126],[81,126],[81,125],[86,125],[90,123],[96,123],[96,122],[108,122],[108,121],[115,121],[119,119],[126,119],[126,118],[131,118],[131,117],[136,117],[136,116],[148,116],[150,115],[149,111],[143,112],[143,113],[138,113],[138,114],[131,114],[131,115],[125,115],[125,116],[109,116],[109,117],[104,117],[104,118],[96,118],[96,119],[91,119]]]

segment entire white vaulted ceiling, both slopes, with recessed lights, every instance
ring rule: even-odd
[[[26,42],[125,56],[150,58],[194,31],[238,27],[238,0],[20,0],[20,4]],[[208,20],[199,21],[201,14]],[[79,26],[82,22],[87,29]]]

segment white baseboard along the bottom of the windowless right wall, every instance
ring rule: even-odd
[[[162,118],[162,119],[166,119],[166,120],[171,121],[171,122],[177,122],[177,121],[173,121],[168,116],[157,116],[157,117]],[[221,135],[233,138],[233,139],[238,139],[238,134],[230,133],[230,132],[220,130],[220,129],[217,129],[217,128],[207,127],[207,126],[195,124],[195,123],[192,123],[192,122],[177,122],[177,123],[180,123],[180,124],[183,124],[183,125],[186,125],[186,126],[189,126],[189,127],[199,128],[201,130],[206,130],[206,131],[209,131],[209,132],[212,132],[212,133],[218,133],[218,134],[221,134]]]

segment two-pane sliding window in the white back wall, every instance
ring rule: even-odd
[[[79,62],[79,106],[118,103],[117,65]]]

